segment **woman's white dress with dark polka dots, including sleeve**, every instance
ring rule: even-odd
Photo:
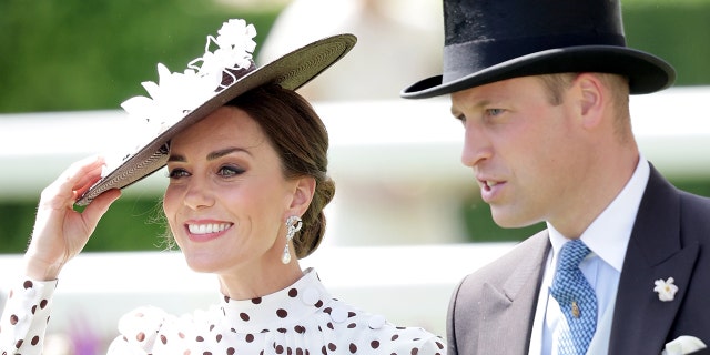
[[[53,288],[51,283],[39,284],[44,290]],[[13,298],[27,300],[13,303]],[[30,297],[30,293],[17,297],[17,292],[9,298],[0,323],[2,351],[40,353],[49,318],[49,304],[42,300],[49,298]],[[8,312],[22,314],[22,310],[34,310],[34,314],[18,315],[16,321],[6,316]],[[224,297],[207,311],[180,317],[160,308],[140,307],[120,320],[119,331],[121,335],[112,342],[109,354],[446,353],[442,338],[423,328],[397,327],[379,315],[333,298],[312,270],[292,286],[274,294],[247,301]]]

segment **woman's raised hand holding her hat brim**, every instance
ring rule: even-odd
[[[32,240],[24,254],[27,276],[38,281],[55,280],[62,266],[87,245],[101,216],[120,190],[94,199],[84,210],[74,211],[74,202],[101,179],[101,158],[73,163],[42,191]]]

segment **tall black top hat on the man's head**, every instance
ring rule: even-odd
[[[444,0],[444,74],[402,91],[423,99],[562,72],[629,78],[631,93],[668,88],[673,68],[626,47],[618,0]]]

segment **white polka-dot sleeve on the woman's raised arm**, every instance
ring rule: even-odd
[[[0,354],[41,354],[57,281],[24,278],[10,288],[0,318]]]

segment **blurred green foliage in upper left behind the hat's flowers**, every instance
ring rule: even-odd
[[[116,109],[202,54],[205,37],[243,18],[264,41],[278,8],[207,0],[3,0],[0,112]],[[258,45],[257,45],[258,51]]]

